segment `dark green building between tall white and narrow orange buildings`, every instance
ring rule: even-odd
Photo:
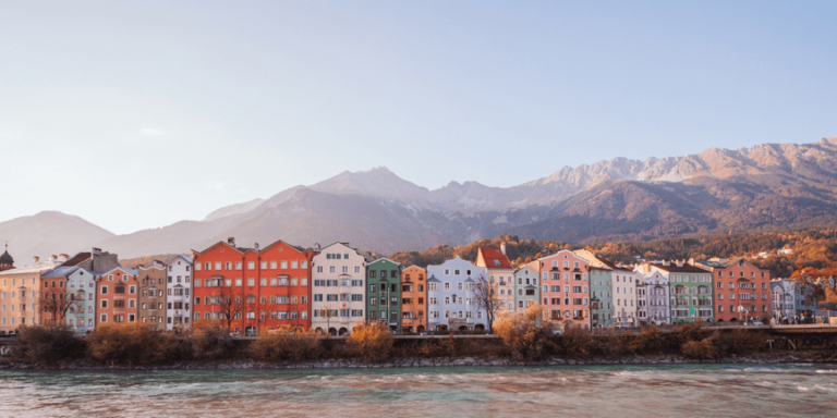
[[[401,331],[401,265],[386,258],[366,265],[366,319]]]

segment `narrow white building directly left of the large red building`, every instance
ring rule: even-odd
[[[192,265],[185,256],[174,256],[166,263],[166,331],[189,329],[192,317]]]

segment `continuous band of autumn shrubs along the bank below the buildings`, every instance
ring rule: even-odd
[[[548,322],[548,321],[547,321]],[[142,324],[97,329],[86,339],[63,328],[22,329],[11,357],[14,369],[317,369],[454,366],[658,365],[683,362],[835,362],[835,341],[800,351],[771,349],[763,331],[714,331],[701,323],[671,332],[590,332],[557,335],[533,309],[501,315],[499,337],[393,339],[379,322],[359,323],[348,339],[277,333],[231,339],[218,324],[166,334]]]

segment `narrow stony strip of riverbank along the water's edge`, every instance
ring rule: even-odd
[[[27,365],[23,362],[0,362],[0,370],[231,370],[231,369],[379,369],[421,367],[544,367],[544,366],[610,366],[610,365],[672,365],[672,364],[837,364],[837,353],[829,352],[781,352],[742,356],[729,356],[707,360],[694,360],[679,355],[643,355],[620,358],[592,357],[571,359],[553,357],[542,361],[515,361],[495,357],[462,358],[392,358],[380,362],[361,359],[326,359],[315,361],[262,362],[254,360],[182,361],[171,365],[128,366],[104,365],[87,360],[73,360],[57,365]]]

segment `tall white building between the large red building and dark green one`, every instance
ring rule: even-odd
[[[343,335],[366,317],[366,259],[345,243],[331,244],[314,256],[312,323],[316,332]]]

